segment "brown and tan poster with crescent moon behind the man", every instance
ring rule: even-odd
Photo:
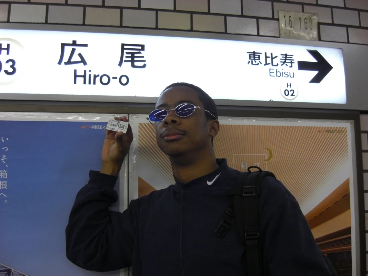
[[[355,275],[352,138],[348,121],[222,117],[217,158],[240,171],[273,172],[295,196],[320,248],[339,275]],[[174,184],[169,158],[157,147],[146,115],[130,116],[130,199]]]

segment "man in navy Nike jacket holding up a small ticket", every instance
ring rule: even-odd
[[[149,119],[159,148],[170,158],[175,185],[132,200],[123,213],[109,211],[133,134],[130,126],[126,134],[108,132],[101,171],[90,172],[70,214],[67,257],[95,271],[132,266],[134,276],[245,276],[245,247],[236,227],[222,239],[215,234],[227,209],[227,190],[240,173],[215,159],[212,140],[220,130],[215,103],[196,86],[173,84]],[[264,275],[330,276],[295,198],[274,178],[263,182]]]

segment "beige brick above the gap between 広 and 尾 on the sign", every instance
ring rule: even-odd
[[[119,26],[120,9],[87,7],[86,25]]]

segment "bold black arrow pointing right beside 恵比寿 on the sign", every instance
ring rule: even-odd
[[[332,70],[332,66],[326,59],[316,50],[307,50],[317,62],[298,61],[298,70],[318,71],[309,83],[320,83],[327,74]]]

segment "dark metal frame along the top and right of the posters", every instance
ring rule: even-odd
[[[50,102],[50,101],[14,101],[1,100],[0,111],[7,112],[66,112],[66,113],[125,113],[149,114],[154,109],[150,103],[111,103],[111,102]],[[219,116],[263,117],[263,118],[300,118],[351,120],[354,122],[355,162],[358,198],[359,254],[360,274],[366,275],[366,231],[364,210],[364,184],[362,143],[360,135],[359,111],[265,108],[246,106],[218,106]],[[354,156],[353,156],[354,157]],[[354,161],[354,160],[353,160]]]

